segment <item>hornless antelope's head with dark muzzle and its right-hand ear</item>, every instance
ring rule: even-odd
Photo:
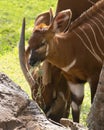
[[[33,29],[33,33],[29,39],[30,58],[29,64],[34,66],[38,61],[43,61],[47,57],[52,56],[51,50],[52,40],[57,33],[60,33],[60,29],[64,22],[70,20],[72,12],[70,9],[59,12],[49,25],[40,23]]]

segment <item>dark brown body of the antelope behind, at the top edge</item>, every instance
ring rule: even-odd
[[[99,0],[58,0],[56,14],[62,10],[71,9],[73,12],[72,21],[78,18],[84,11],[90,8]]]

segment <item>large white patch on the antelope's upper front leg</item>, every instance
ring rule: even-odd
[[[70,91],[78,98],[84,96],[84,84],[73,84],[68,82]]]

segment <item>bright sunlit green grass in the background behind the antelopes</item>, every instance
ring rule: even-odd
[[[0,72],[8,75],[29,95],[26,82],[18,59],[18,42],[23,17],[26,17],[26,41],[34,26],[34,19],[39,13],[55,9],[57,0],[0,0]],[[85,98],[81,111],[81,123],[86,124],[90,107],[89,87],[85,87]]]

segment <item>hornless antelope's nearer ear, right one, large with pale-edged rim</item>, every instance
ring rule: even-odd
[[[70,22],[71,17],[72,17],[72,11],[70,9],[59,12],[55,16],[52,24],[50,25],[51,31],[55,33],[60,32],[60,29],[62,28],[64,23],[67,21]],[[69,22],[67,24],[69,24]]]

